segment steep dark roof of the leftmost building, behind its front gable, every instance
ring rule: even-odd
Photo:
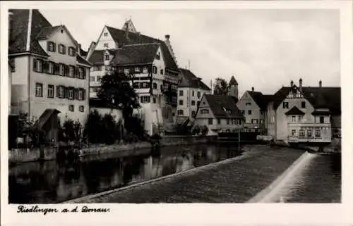
[[[10,35],[8,39],[8,54],[18,54],[26,51],[28,19],[30,10],[11,9],[10,15]],[[47,19],[37,9],[32,10],[32,23],[30,34],[30,52],[49,56],[37,41],[37,36],[44,27],[52,27]]]

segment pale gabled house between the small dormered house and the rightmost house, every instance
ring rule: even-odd
[[[237,103],[237,107],[245,117],[244,127],[250,130],[260,130],[262,134],[266,133],[268,125],[267,105],[271,98],[272,95],[255,92],[253,87],[251,91],[244,92]]]

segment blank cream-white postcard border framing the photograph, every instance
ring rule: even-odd
[[[39,9],[340,9],[342,204],[90,204],[110,213],[16,214],[8,205],[8,8]],[[352,225],[352,1],[1,1],[1,225]],[[55,205],[40,205],[53,207]],[[74,206],[73,204],[63,204]],[[83,206],[83,205],[78,205]]]

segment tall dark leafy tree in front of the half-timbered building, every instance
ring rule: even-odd
[[[104,75],[101,80],[100,91],[97,96],[110,106],[122,111],[125,128],[127,121],[132,118],[133,109],[139,108],[138,95],[130,86],[128,76],[119,74],[116,70],[110,75]]]

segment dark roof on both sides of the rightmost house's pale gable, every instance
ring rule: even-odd
[[[290,87],[282,87],[273,95],[273,107],[276,109],[286,98]],[[328,108],[333,114],[341,112],[340,87],[302,87],[304,97],[314,108]],[[320,93],[321,92],[321,93]]]

